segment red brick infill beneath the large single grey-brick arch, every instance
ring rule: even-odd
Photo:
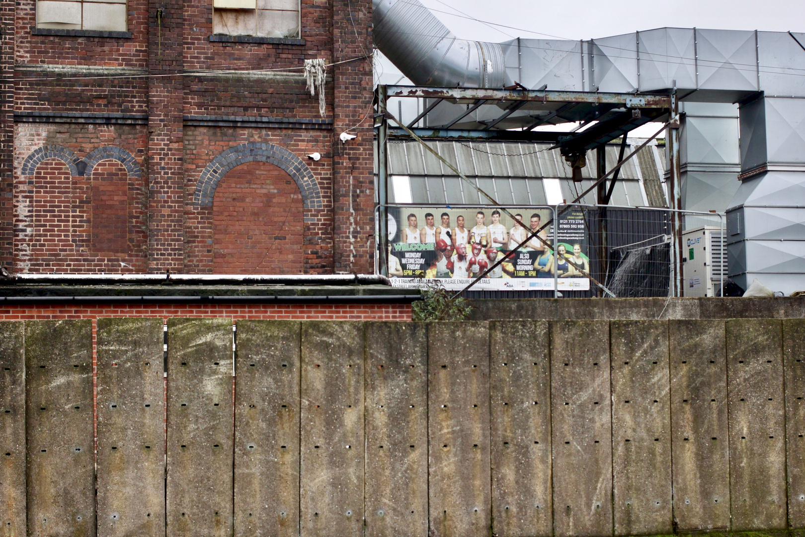
[[[291,176],[259,161],[230,169],[212,207],[213,272],[301,274],[303,202]]]

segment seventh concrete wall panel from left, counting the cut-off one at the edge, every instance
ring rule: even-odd
[[[427,535],[427,326],[366,324],[366,535]]]

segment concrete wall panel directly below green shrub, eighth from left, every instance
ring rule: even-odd
[[[427,333],[431,537],[489,535],[489,326]]]

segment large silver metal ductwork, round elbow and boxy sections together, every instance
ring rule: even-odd
[[[416,96],[452,88],[453,96],[474,99],[444,98],[438,107],[426,100],[433,107],[417,118],[425,126],[489,133],[596,120],[611,127],[623,108],[551,107],[544,96],[632,94],[639,103],[670,95],[671,109],[610,128],[599,143],[671,119],[671,208],[727,213],[729,275],[741,287],[758,278],[786,294],[805,288],[805,34],[658,28],[581,41],[484,43],[457,39],[418,0],[373,0],[373,7],[378,48],[415,85],[445,89]],[[473,88],[537,96],[504,102]]]

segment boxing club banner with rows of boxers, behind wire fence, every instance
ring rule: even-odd
[[[528,229],[551,219],[550,209],[507,209]],[[394,287],[421,287],[438,280],[459,291],[473,279],[503,262],[473,287],[479,291],[552,291],[590,288],[588,247],[581,209],[559,219],[557,244],[553,224],[514,251],[530,235],[512,217],[494,208],[451,209],[394,207],[389,209],[388,275]]]

